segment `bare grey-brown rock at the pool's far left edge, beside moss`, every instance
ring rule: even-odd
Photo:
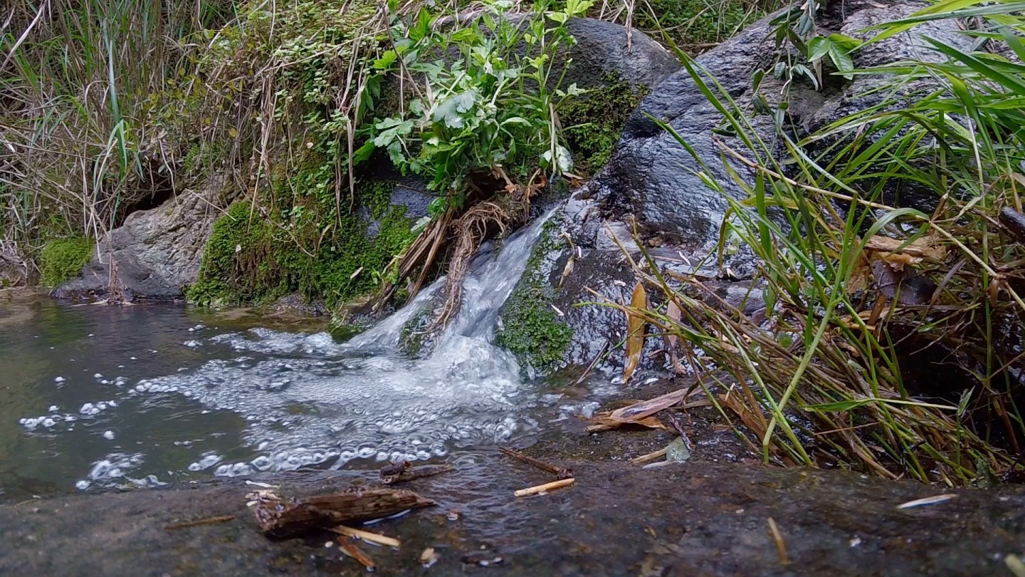
[[[186,190],[150,210],[128,215],[100,239],[82,276],[63,284],[58,297],[100,296],[110,291],[111,262],[117,280],[135,298],[174,299],[196,280],[203,245],[220,216],[225,180],[212,178],[202,189]]]

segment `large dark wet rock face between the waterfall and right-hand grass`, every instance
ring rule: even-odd
[[[873,33],[862,32],[864,28],[907,16],[927,5],[896,0],[849,1],[830,8],[819,23],[819,30],[821,34],[839,32],[865,39]],[[700,69],[722,85],[739,110],[751,110],[754,72],[770,69],[776,62],[770,35],[773,17],[766,17],[696,59]],[[922,34],[959,49],[971,48],[972,39],[960,33],[956,22],[940,21],[867,47],[858,52],[855,65],[865,68],[902,59],[942,59],[941,54],[929,49]],[[810,82],[794,82],[790,86],[788,109],[789,124],[797,131],[793,137],[799,139],[849,114],[878,105],[889,91],[873,92],[869,88],[880,82],[883,80],[872,76],[857,76],[853,81],[835,76],[827,78],[826,85],[819,91]],[[778,80],[767,78],[762,92],[779,93],[780,87]],[[916,88],[921,86],[908,87],[909,98]],[[651,117],[670,124],[691,146],[700,164]],[[774,125],[769,116],[753,116],[748,120],[765,142],[773,142]],[[749,279],[753,275],[755,268],[748,249],[735,246],[728,251],[722,267],[715,260],[720,228],[729,204],[724,194],[709,189],[696,172],[706,170],[722,185],[726,195],[737,199],[745,196],[744,190],[725,169],[722,150],[713,137],[740,151],[745,147],[736,139],[713,134],[722,121],[723,115],[708,103],[686,69],[672,73],[657,84],[629,118],[606,169],[566,203],[561,231],[555,234],[568,234],[577,255],[573,274],[552,301],[555,306],[567,311],[565,320],[574,331],[564,364],[587,364],[600,353],[604,343],[621,343],[622,312],[610,307],[574,305],[600,300],[588,288],[612,302],[629,301],[637,280],[620,246],[634,260],[643,261],[641,246],[633,240],[634,230],[660,267],[683,274],[696,271],[709,279],[725,277],[711,282],[713,292],[720,298],[742,304],[747,314],[755,314],[764,306],[760,292],[750,291],[749,282],[731,286],[731,281]],[[733,163],[733,168],[742,177],[751,177],[745,166]],[[928,206],[931,200],[915,196],[913,191],[898,192],[905,203]],[[545,261],[554,263],[547,272],[555,286],[569,259],[568,243],[552,252],[555,254]],[[714,297],[709,298],[715,301]],[[659,339],[648,339],[644,358],[649,358],[649,353],[658,348]],[[649,361],[648,367],[658,366],[663,355],[656,357],[658,360]],[[614,347],[613,354],[602,368],[614,373],[621,363],[622,347],[619,346]]]

